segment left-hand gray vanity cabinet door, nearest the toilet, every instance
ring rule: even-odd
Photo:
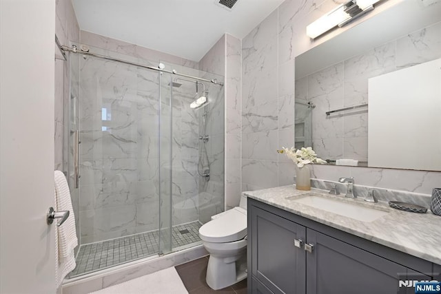
[[[252,275],[272,293],[305,293],[306,228],[252,207]]]

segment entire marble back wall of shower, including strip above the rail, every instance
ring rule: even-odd
[[[81,32],[81,43],[198,74],[194,61],[90,32]],[[161,78],[170,93],[170,76]],[[81,59],[81,243],[158,228],[158,88],[157,72]],[[173,88],[173,140],[167,140],[173,224],[198,218],[198,114],[188,107],[193,96],[194,85]]]

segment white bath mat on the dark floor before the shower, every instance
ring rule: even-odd
[[[174,267],[103,288],[90,294],[188,294]]]

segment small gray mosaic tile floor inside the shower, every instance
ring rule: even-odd
[[[201,224],[189,222],[173,227],[173,248],[200,242]],[[158,253],[158,231],[139,233],[103,242],[80,245],[76,255],[76,267],[69,277],[92,273],[111,266],[131,262]]]

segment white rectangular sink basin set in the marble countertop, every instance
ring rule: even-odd
[[[316,193],[307,193],[305,197],[296,198],[292,201],[336,213],[340,216],[346,216],[347,218],[353,218],[354,220],[361,220],[362,222],[372,222],[389,213],[388,211],[365,207],[362,204],[352,204],[343,200],[321,197]]]

